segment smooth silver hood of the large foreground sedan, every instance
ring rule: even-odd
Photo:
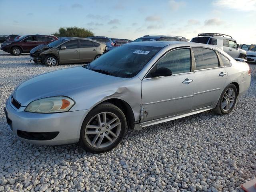
[[[84,97],[92,89],[106,91],[107,87],[123,80],[126,78],[101,74],[80,66],[31,78],[21,83],[14,90],[12,96],[22,106],[27,106],[34,100],[51,96],[68,96],[77,101],[81,99],[81,95]],[[100,91],[95,92],[99,93]]]

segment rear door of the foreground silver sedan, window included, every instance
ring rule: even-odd
[[[228,76],[215,50],[192,48],[196,63],[192,110],[212,106],[219,99]]]

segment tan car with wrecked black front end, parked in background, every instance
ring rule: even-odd
[[[106,44],[86,38],[60,38],[48,45],[39,45],[30,51],[34,62],[48,66],[66,63],[91,62],[106,50]]]

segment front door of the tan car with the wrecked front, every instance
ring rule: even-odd
[[[78,40],[69,40],[62,44],[66,49],[60,49],[60,62],[61,63],[76,63],[79,62],[79,48]]]

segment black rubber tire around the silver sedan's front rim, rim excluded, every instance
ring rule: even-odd
[[[119,120],[120,120],[120,133],[117,136],[116,140],[114,140],[114,142],[112,144],[110,144],[107,147],[102,147],[102,148],[96,148],[94,146],[92,146],[87,140],[86,140],[86,136],[85,136],[85,131],[86,131],[86,126],[88,125],[88,123],[90,122],[90,120],[92,118],[94,118],[94,116],[96,116],[99,113],[104,113],[104,112],[109,112],[112,114],[115,114]],[[106,127],[107,128],[107,127]],[[114,130],[114,129],[113,129]],[[98,106],[96,106],[95,108],[93,108],[88,115],[86,116],[86,118],[84,119],[84,122],[82,124],[81,127],[81,131],[80,131],[80,140],[79,140],[79,144],[80,146],[82,146],[86,151],[91,152],[91,153],[102,153],[102,152],[107,152],[112,150],[114,147],[116,147],[120,141],[123,139],[124,134],[126,131],[126,118],[124,116],[124,113],[122,112],[122,110],[120,110],[120,108],[118,108],[117,106],[115,106],[114,104],[108,103],[108,102],[104,102],[102,104],[99,104]]]

